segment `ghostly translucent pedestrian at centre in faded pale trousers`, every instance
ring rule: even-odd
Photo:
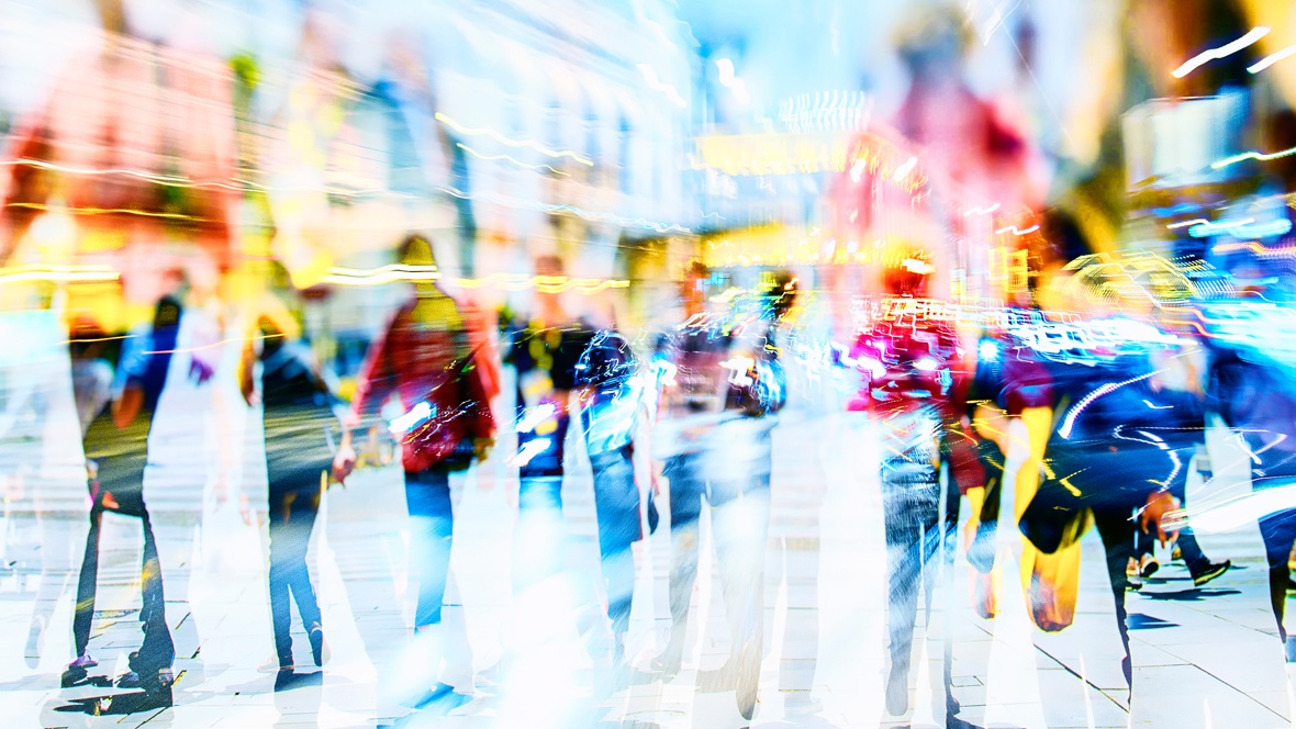
[[[701,262],[686,271],[684,321],[664,335],[654,363],[660,404],[652,452],[670,488],[673,553],[670,633],[654,667],[665,676],[680,671],[706,513],[732,640],[715,675],[722,688],[735,689],[739,712],[750,719],[765,637],[771,431],[785,392],[774,334],[776,312],[785,309],[762,307],[745,316],[719,304],[708,311],[709,277]]]

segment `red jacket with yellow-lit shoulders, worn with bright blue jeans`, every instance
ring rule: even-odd
[[[491,378],[483,373],[490,365],[481,355],[485,347],[474,347],[485,337],[472,331],[472,319],[450,297],[420,297],[400,307],[386,334],[369,347],[346,425],[356,427],[377,414],[391,395],[407,413],[421,403],[430,405],[429,416],[402,443],[407,473],[426,470],[456,447],[495,435]]]

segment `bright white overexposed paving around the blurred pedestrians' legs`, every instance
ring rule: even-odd
[[[919,611],[915,708],[888,716],[877,439],[871,426],[846,422],[831,408],[796,403],[775,430],[765,656],[750,723],[737,713],[734,691],[709,680],[728,654],[728,631],[705,519],[683,669],[664,681],[649,668],[669,625],[664,519],[656,535],[635,545],[629,654],[636,672],[627,689],[605,685],[594,500],[578,442],[564,487],[562,579],[515,600],[517,480],[498,452],[454,482],[445,624],[417,642],[400,474],[362,470],[346,487],[330,488],[308,559],[332,655],[323,669],[303,669],[276,690],[276,676],[262,668],[272,638],[258,418],[227,410],[237,416],[229,438],[241,447],[224,452],[238,467],[222,475],[214,434],[229,421],[211,413],[235,400],[228,388],[213,392],[193,383],[168,388],[154,434],[163,457],[145,484],[178,647],[175,703],[149,708],[106,685],[61,689],[60,673],[73,658],[71,612],[88,513],[76,475],[70,390],[57,361],[5,382],[14,401],[23,387],[38,394],[27,398],[26,416],[0,423],[0,716],[6,726],[954,726],[940,701],[945,631],[954,638],[962,725],[1292,724],[1292,677],[1267,603],[1255,524],[1201,535],[1213,559],[1235,565],[1208,587],[1194,589],[1182,565],[1169,563],[1163,552],[1161,571],[1130,593],[1131,703],[1096,533],[1082,541],[1074,624],[1045,633],[1026,614],[1021,540],[1004,522],[998,615],[982,619],[972,610],[972,571],[960,554],[950,583],[931,596],[931,611]],[[1242,467],[1227,449],[1223,434],[1213,434],[1217,473]],[[248,521],[238,493],[250,497]],[[136,522],[106,517],[91,641],[96,671],[105,677],[126,671],[126,655],[139,645],[141,541]],[[295,654],[308,656],[295,620]],[[454,695],[417,710],[403,706],[434,681],[452,685]]]

